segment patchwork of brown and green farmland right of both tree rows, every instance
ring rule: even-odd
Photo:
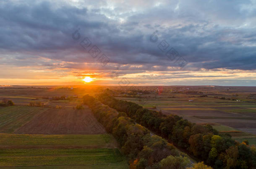
[[[255,88],[236,87],[236,90],[237,93],[234,94],[232,90],[213,90],[209,87],[209,90],[208,88],[201,90],[204,94],[150,93],[141,94],[139,97],[116,98],[138,103],[145,108],[161,110],[167,115],[177,114],[194,123],[212,124],[214,127],[226,126],[225,129],[219,128],[219,131],[224,132],[228,128],[232,131],[238,131],[240,136],[233,135],[234,139],[238,141],[247,139],[250,144],[255,144],[256,101],[248,99],[249,96],[252,96],[251,93],[256,92]],[[208,96],[201,97],[204,95]],[[237,99],[234,99],[235,96]],[[248,136],[248,133],[251,135]]]

